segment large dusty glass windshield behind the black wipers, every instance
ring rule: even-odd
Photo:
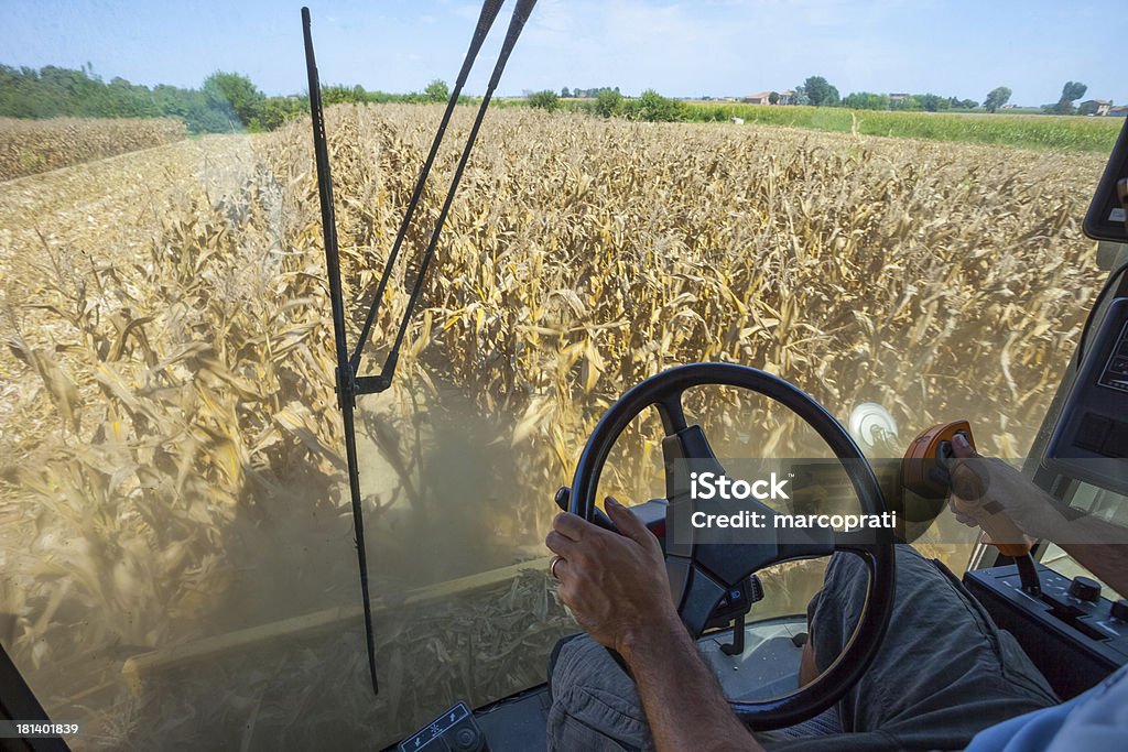
[[[967,6],[967,63],[938,76],[957,53],[905,48],[915,10],[853,6],[534,11],[396,380],[358,400],[376,697],[297,7],[14,12],[0,642],[52,718],[82,723],[68,742],[382,746],[543,682],[576,630],[547,573],[553,493],[607,407],[672,365],[776,373],[844,424],[876,404],[898,451],[967,418],[984,453],[1026,452],[1101,282],[1081,219],[1128,91],[1087,50],[1128,29],[1086,27],[1082,48],[1055,3],[1007,19],[1073,63],[1033,74],[1025,47],[981,36],[996,11]],[[325,96],[350,343],[476,16],[314,10],[323,82],[341,82]],[[752,37],[763,60],[740,57]],[[888,52],[858,62],[862,38]],[[710,65],[654,56],[713,45]],[[491,65],[362,373],[395,336]],[[765,400],[703,389],[687,407],[719,455],[826,455]],[[636,421],[605,490],[661,495],[660,440],[656,416]],[[972,538],[951,524],[918,546],[959,573]],[[755,617],[801,613],[819,572],[764,580]]]

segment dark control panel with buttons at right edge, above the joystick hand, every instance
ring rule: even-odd
[[[1128,494],[1128,298],[1109,304],[1046,450],[1055,472]]]

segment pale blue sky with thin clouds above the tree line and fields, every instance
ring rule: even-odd
[[[468,85],[484,89],[505,3]],[[741,96],[825,76],[855,90],[932,91],[981,100],[1056,101],[1066,80],[1086,98],[1128,101],[1116,51],[1122,0],[539,0],[502,94],[567,87]],[[5,0],[0,62],[78,68],[106,80],[197,87],[215,70],[267,94],[305,88],[300,0],[140,2]],[[309,1],[323,82],[386,91],[451,81],[479,3]],[[1116,8],[1121,8],[1117,11]]]

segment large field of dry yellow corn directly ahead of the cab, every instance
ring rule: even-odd
[[[439,114],[327,113],[352,340]],[[456,116],[408,249],[430,235],[469,122]],[[308,123],[144,159],[0,184],[0,638],[52,688],[49,711],[91,719],[92,747],[139,743],[146,718],[176,731],[174,690],[131,695],[126,657],[359,600]],[[1102,166],[492,112],[397,381],[360,399],[376,602],[394,613],[405,589],[544,555],[552,492],[602,410],[676,364],[777,373],[840,419],[878,401],[908,434],[967,416],[981,451],[1021,455],[1100,284],[1079,224]],[[373,370],[415,262],[393,275]],[[715,445],[816,455],[763,400],[703,390],[687,407]],[[620,443],[603,485],[638,498],[658,478],[656,422]],[[390,697],[323,706],[311,683],[267,702],[292,666],[266,660],[224,679],[209,713],[232,728],[253,715],[245,749],[276,744],[266,729],[298,710],[394,738],[456,695],[538,681],[569,630],[545,592],[522,580],[434,632],[378,620],[378,635],[398,625],[381,643]],[[520,649],[484,648],[479,612],[490,639]],[[325,692],[362,695],[354,638],[290,657],[336,676]]]

